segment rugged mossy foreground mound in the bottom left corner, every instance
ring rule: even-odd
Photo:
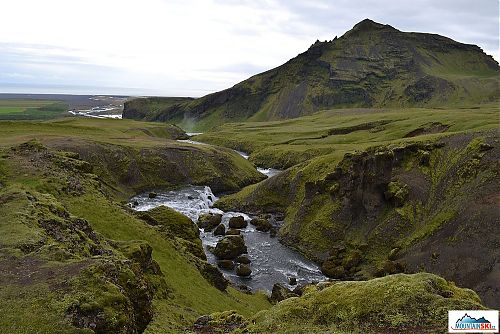
[[[6,218],[0,228],[17,235],[2,235],[0,243],[2,332],[144,328],[153,290],[164,290],[164,281],[153,287],[144,259],[129,261],[54,197],[23,188],[8,185],[0,192]]]

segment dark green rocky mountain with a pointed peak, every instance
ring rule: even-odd
[[[473,105],[500,97],[500,67],[481,48],[371,20],[287,63],[198,99],[146,98],[124,117],[203,129],[339,107]]]

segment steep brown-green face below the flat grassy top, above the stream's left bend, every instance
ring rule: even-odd
[[[108,186],[126,196],[189,184],[207,185],[214,192],[235,191],[264,178],[235,152],[213,146],[169,142],[134,148],[92,141],[50,145],[79,153],[81,159],[95,166],[93,172]]]

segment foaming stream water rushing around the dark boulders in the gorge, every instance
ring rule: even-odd
[[[156,198],[149,198],[148,194],[142,194],[131,199],[137,201],[135,210],[145,211],[160,205],[168,206],[197,221],[202,213],[213,212],[222,214],[222,223],[228,227],[229,219],[234,216],[243,216],[250,221],[251,217],[245,213],[223,212],[213,208],[217,197],[212,193],[210,187],[191,186],[181,190],[158,193]],[[273,222],[279,227],[282,222]],[[325,277],[318,266],[304,258],[299,253],[282,245],[277,238],[271,238],[269,233],[256,231],[254,226],[241,230],[248,248],[248,256],[251,263],[252,275],[250,278],[238,277],[234,271],[222,270],[224,275],[236,285],[246,285],[252,290],[270,291],[274,283],[288,285],[291,277],[297,279],[298,283],[321,281]],[[215,246],[222,237],[214,236],[212,232],[200,230],[200,238],[205,247],[208,261],[215,264],[217,259],[207,251],[207,246]],[[289,286],[292,287],[292,286]]]

